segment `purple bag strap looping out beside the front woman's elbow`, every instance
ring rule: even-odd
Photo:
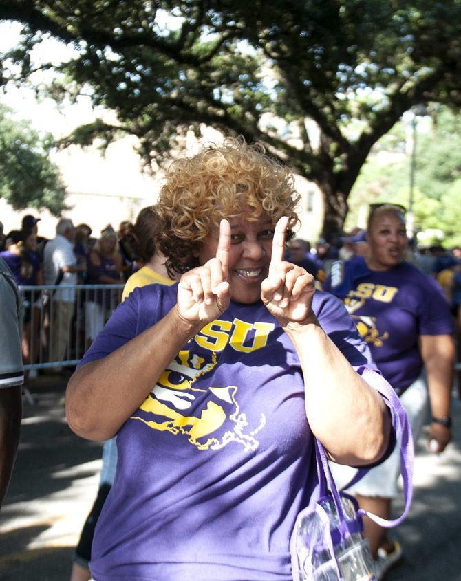
[[[378,391],[381,395],[385,397],[387,400],[387,405],[391,409],[392,413],[392,423],[396,428],[396,432],[400,435],[400,466],[402,472],[402,479],[403,479],[403,496],[405,499],[405,507],[403,509],[403,513],[394,520],[385,520],[380,516],[376,516],[372,512],[367,512],[366,510],[359,509],[358,514],[361,516],[367,515],[369,518],[374,520],[374,522],[381,527],[385,528],[392,528],[400,525],[402,521],[407,516],[410,506],[411,506],[411,499],[413,498],[413,468],[414,468],[414,443],[413,437],[411,435],[411,428],[409,426],[409,421],[407,418],[407,414],[403,409],[402,404],[400,403],[400,399],[398,399],[398,395],[392,389],[392,387],[387,383],[382,375],[378,375],[378,373],[368,369],[367,367],[363,367],[358,370],[358,373],[361,373],[363,379],[367,381],[370,385],[372,385],[376,391]],[[367,380],[369,377],[369,381]],[[398,444],[396,444],[398,445]],[[359,468],[354,476],[354,478],[347,483],[343,487],[342,490],[354,485],[358,482],[365,474],[370,470],[369,468]]]

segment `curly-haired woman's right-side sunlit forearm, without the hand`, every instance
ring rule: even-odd
[[[378,460],[391,430],[383,398],[352,369],[317,320],[285,330],[301,362],[306,415],[314,435],[336,462]]]

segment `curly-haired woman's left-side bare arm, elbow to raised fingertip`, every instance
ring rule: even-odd
[[[109,439],[138,409],[189,339],[224,312],[230,226],[223,223],[216,258],[181,277],[178,300],[156,325],[107,357],[82,366],[67,386],[69,426],[87,439]],[[122,370],[122,371],[121,371]]]

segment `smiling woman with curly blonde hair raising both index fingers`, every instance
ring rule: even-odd
[[[312,435],[341,463],[385,455],[367,347],[340,301],[283,261],[296,202],[290,171],[243,140],[171,164],[157,242],[180,281],[135,289],[67,388],[76,433],[117,434],[96,581],[288,581],[317,490]]]

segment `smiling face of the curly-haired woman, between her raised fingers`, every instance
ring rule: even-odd
[[[268,276],[274,226],[268,215],[257,221],[230,218],[228,283],[237,303],[250,305],[261,296],[261,283]],[[198,259],[203,265],[216,256],[219,228],[213,228],[202,243]]]

